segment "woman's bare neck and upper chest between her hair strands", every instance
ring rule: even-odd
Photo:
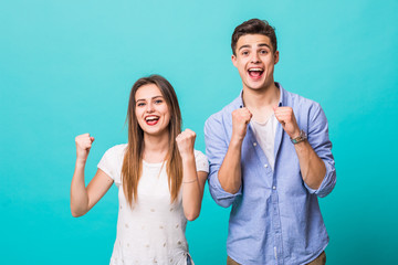
[[[144,134],[143,159],[149,163],[163,162],[169,150],[169,134],[160,136]]]

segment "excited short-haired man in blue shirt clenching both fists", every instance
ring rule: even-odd
[[[227,264],[325,264],[328,236],[317,197],[336,182],[320,104],[274,82],[274,29],[258,19],[232,34],[238,98],[205,125],[214,201],[232,205]]]

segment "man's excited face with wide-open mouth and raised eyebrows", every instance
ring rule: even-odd
[[[262,89],[274,83],[273,70],[279,52],[273,52],[270,38],[262,34],[247,34],[237,42],[237,55],[232,63],[242,78],[243,88]]]

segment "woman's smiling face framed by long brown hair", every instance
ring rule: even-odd
[[[168,134],[170,113],[160,89],[155,84],[143,85],[135,94],[135,113],[144,134]]]

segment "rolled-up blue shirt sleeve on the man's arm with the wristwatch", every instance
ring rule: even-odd
[[[336,184],[336,169],[332,155],[332,142],[328,137],[327,119],[320,104],[312,106],[308,118],[308,142],[316,155],[324,161],[326,173],[317,190],[304,184],[310,193],[315,193],[323,198],[331,193]]]

